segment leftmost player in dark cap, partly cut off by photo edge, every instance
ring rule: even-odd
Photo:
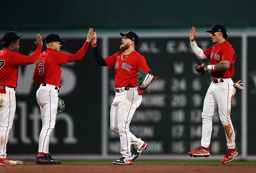
[[[9,160],[6,157],[6,145],[9,137],[9,132],[13,124],[14,114],[16,110],[15,91],[18,82],[19,65],[34,64],[42,51],[42,37],[37,34],[36,51],[25,56],[18,53],[20,37],[14,31],[9,31],[3,36],[2,46],[0,51],[0,164],[24,164],[22,161]]]

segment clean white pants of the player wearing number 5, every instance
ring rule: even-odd
[[[41,86],[37,90],[37,103],[40,106],[42,117],[42,130],[39,136],[38,152],[49,153],[50,134],[54,129],[57,107],[58,92],[54,85]]]

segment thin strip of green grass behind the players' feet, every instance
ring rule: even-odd
[[[35,161],[25,161],[26,164],[35,164]],[[63,161],[62,164],[112,164],[109,161]],[[133,164],[187,164],[187,165],[256,165],[255,161],[233,161],[228,164],[222,164],[220,161],[136,161]]]

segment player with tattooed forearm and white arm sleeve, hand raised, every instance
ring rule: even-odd
[[[210,65],[201,65],[204,71],[211,70],[211,85],[205,96],[202,112],[202,139],[201,146],[193,152],[189,152],[189,156],[208,157],[210,156],[210,141],[212,134],[212,117],[217,108],[219,108],[220,120],[223,124],[228,151],[222,163],[231,162],[238,155],[235,144],[235,132],[230,119],[231,102],[236,93],[233,87],[234,82],[231,77],[234,75],[234,63],[236,55],[233,47],[227,41],[228,34],[226,28],[221,24],[215,24],[211,30],[210,37],[214,43],[207,50],[200,49],[195,42],[194,26],[190,29],[190,42],[193,52],[198,59],[210,59]]]

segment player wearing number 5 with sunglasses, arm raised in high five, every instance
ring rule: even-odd
[[[71,55],[60,52],[62,43],[65,40],[61,40],[58,34],[51,33],[45,38],[47,50],[37,59],[33,76],[34,81],[39,87],[36,97],[43,122],[39,136],[36,164],[61,164],[61,161],[51,157],[49,153],[49,140],[55,126],[58,93],[61,87],[62,64],[82,60],[92,40],[92,35],[93,29],[90,28],[83,47],[76,54]]]

